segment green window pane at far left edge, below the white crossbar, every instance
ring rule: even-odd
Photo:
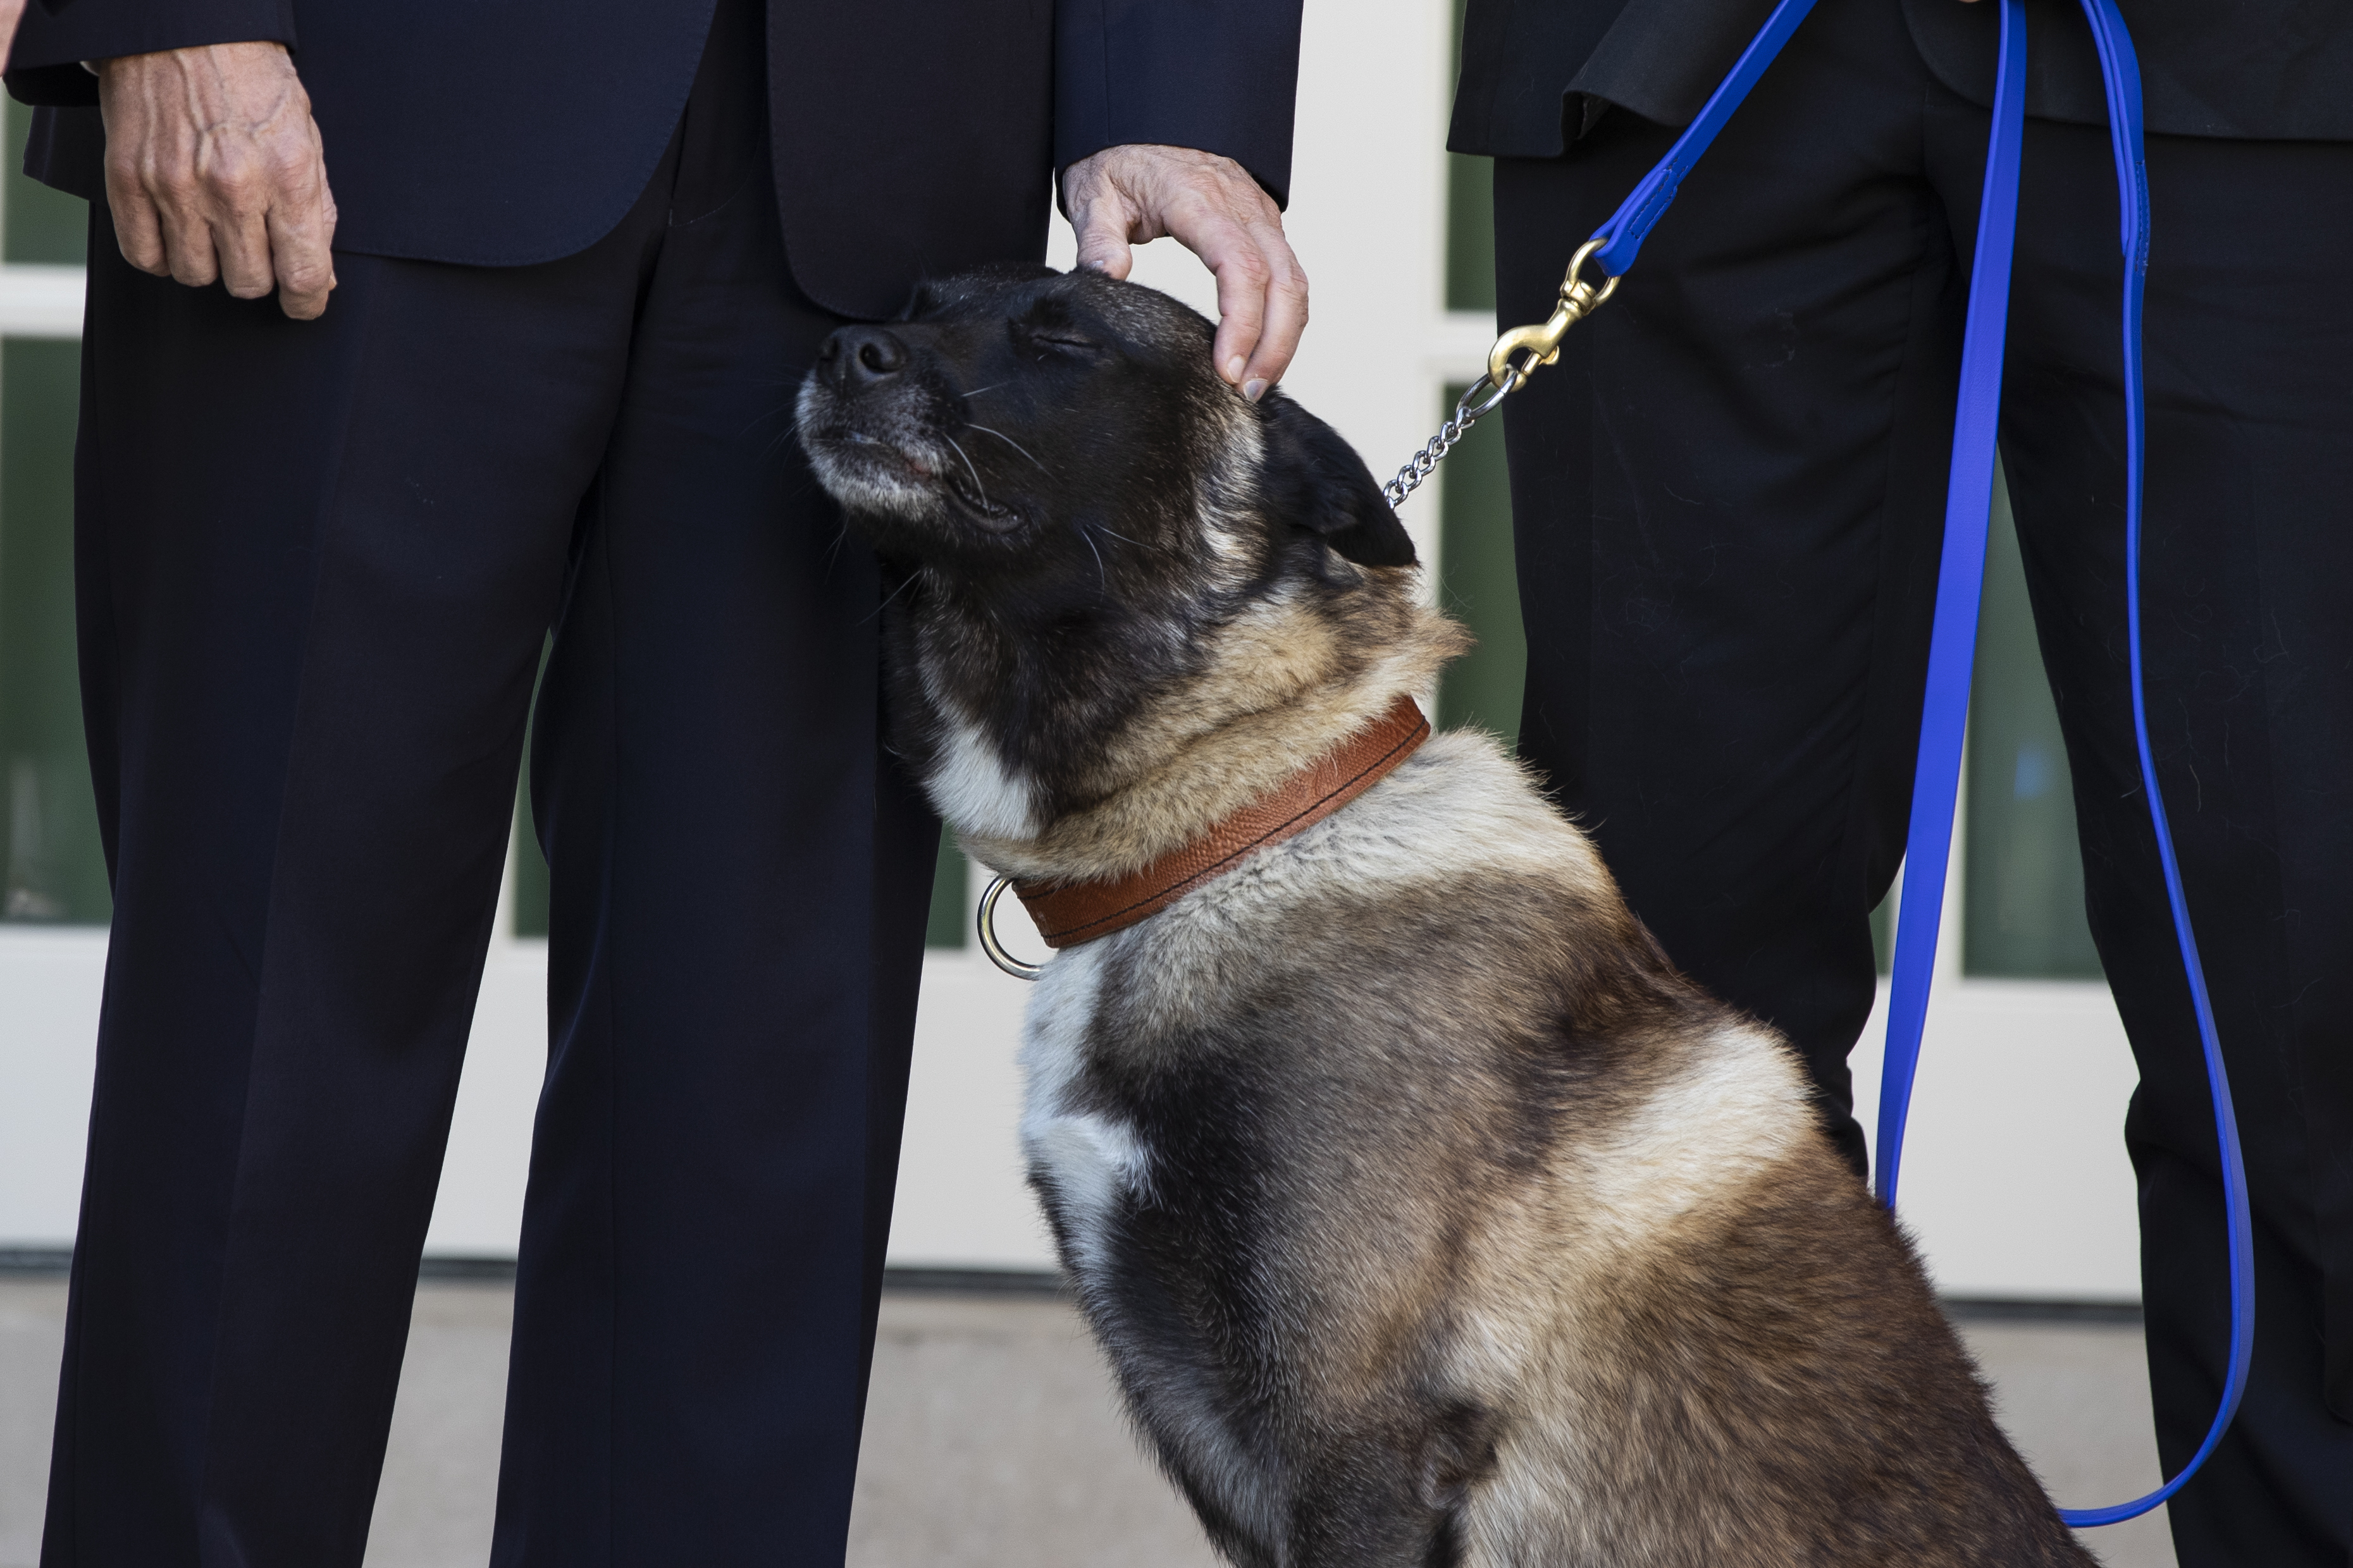
[[[82,346],[0,343],[0,919],[113,914],[73,651]]]

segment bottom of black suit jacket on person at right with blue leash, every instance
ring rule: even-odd
[[[1612,103],[1689,125],[1774,0],[1468,0],[1447,146],[1558,158]],[[2120,0],[2148,129],[2353,141],[2353,0]],[[1993,5],[1904,0],[1937,78],[1993,103]],[[1812,26],[1812,21],[1807,24]],[[2075,0],[2026,0],[2026,113],[2106,125]]]

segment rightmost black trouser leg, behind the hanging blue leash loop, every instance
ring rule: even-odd
[[[2184,1568],[2353,1561],[2353,146],[2151,136],[2151,745],[2254,1199],[2257,1359],[2169,1505]],[[2113,162],[2031,122],[2002,449],[2075,778],[2092,936],[2139,1058],[2167,1472],[2221,1399],[2205,1060],[2132,741]],[[2031,1091],[2031,1088],[2028,1088]]]

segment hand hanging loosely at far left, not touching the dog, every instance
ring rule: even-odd
[[[334,193],[285,45],[99,61],[106,202],[122,259],[308,322],[334,289]]]

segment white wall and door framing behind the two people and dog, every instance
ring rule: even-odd
[[[1475,376],[1494,336],[1492,322],[1442,310],[1447,14],[1445,0],[1311,0],[1301,52],[1289,230],[1315,320],[1287,386],[1381,477],[1428,440],[1440,388]],[[1056,226],[1056,259],[1068,256]],[[1169,242],[1146,247],[1136,277],[1214,308],[1207,275]],[[54,277],[0,280],[9,331],[71,334],[73,303]],[[1435,491],[1407,505],[1431,559],[1435,517]],[[1019,931],[1019,912],[1007,914]],[[71,1241],[104,947],[92,931],[0,929],[0,1246]],[[544,985],[544,945],[492,950],[435,1253],[513,1253],[546,1056]],[[899,1262],[1047,1265],[1014,1150],[1024,990],[976,952],[925,966]],[[1878,1093],[1875,1037],[1878,1025],[1857,1051],[1866,1107]],[[1941,980],[1904,1197],[1946,1291],[2137,1298],[2118,1131],[2132,1081],[2104,987]]]

